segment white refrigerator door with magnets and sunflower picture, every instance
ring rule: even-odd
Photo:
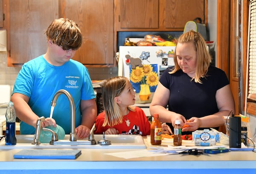
[[[136,103],[151,103],[161,73],[174,66],[175,46],[120,46],[118,75],[136,90]]]

